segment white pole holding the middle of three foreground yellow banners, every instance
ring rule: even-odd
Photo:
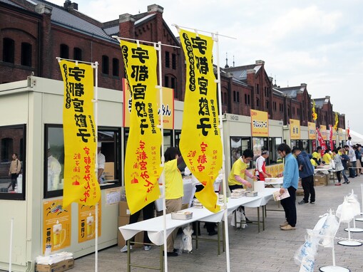
[[[163,117],[163,81],[162,81],[162,69],[161,69],[161,41],[158,41],[158,46],[155,44],[155,49],[158,51],[158,68],[159,68],[159,85],[155,86],[159,89],[160,99],[160,131],[161,131],[161,164],[160,167],[164,168],[164,117]],[[167,254],[167,238],[166,236],[166,201],[165,201],[165,173],[164,170],[161,172],[160,181],[163,182],[163,231],[164,231],[164,271],[168,272],[168,254]],[[171,235],[171,234],[170,234]]]

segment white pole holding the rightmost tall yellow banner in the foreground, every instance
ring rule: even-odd
[[[227,185],[225,179],[225,149],[223,142],[223,120],[222,120],[222,91],[220,88],[220,57],[219,57],[219,41],[218,41],[218,32],[213,34],[213,40],[216,43],[216,62],[217,62],[217,80],[215,82],[218,86],[218,108],[219,108],[219,119],[220,119],[220,140],[222,142],[222,172],[223,172],[223,209],[224,211],[224,224],[225,224],[225,258],[227,261],[227,272],[230,272],[230,241],[228,234],[228,219],[227,219]]]

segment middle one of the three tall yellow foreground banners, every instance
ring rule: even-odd
[[[132,95],[125,158],[126,199],[131,214],[158,199],[161,132],[156,103],[157,58],[153,46],[121,41],[126,79]]]

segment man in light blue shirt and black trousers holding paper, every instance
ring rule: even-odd
[[[297,166],[297,160],[291,154],[291,148],[286,144],[281,144],[277,147],[277,152],[282,158],[285,158],[284,172],[280,174],[280,177],[284,177],[282,187],[280,188],[280,194],[284,194],[285,191],[289,192],[290,197],[281,199],[281,205],[285,211],[286,221],[280,224],[280,229],[283,231],[292,231],[296,229],[296,190],[299,182],[299,167]]]

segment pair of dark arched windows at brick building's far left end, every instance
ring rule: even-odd
[[[3,38],[3,61],[6,63],[14,63],[16,53],[15,42],[11,38]],[[22,66],[31,67],[31,44],[21,43],[21,59]]]

